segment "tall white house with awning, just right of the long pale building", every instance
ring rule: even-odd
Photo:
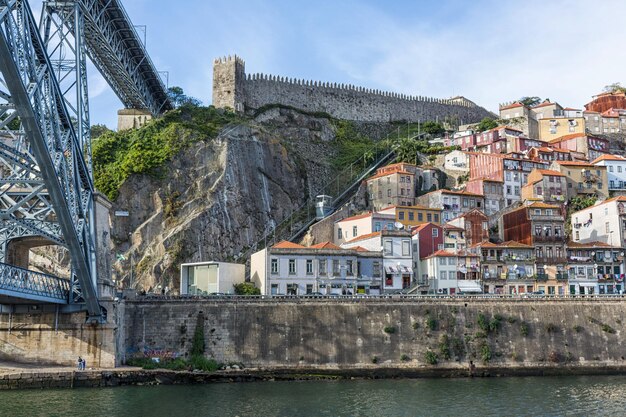
[[[413,284],[413,246],[411,233],[405,230],[382,230],[343,243],[342,248],[382,251],[382,292],[407,289]]]

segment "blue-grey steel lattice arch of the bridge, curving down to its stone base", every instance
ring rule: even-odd
[[[68,113],[26,0],[0,0],[0,57],[3,121],[19,116],[21,122],[19,129],[10,122],[0,129],[0,189],[7,190],[0,193],[0,237],[24,233],[64,243],[78,281],[71,283],[70,301],[84,300],[90,318],[102,320],[93,184],[83,158],[84,138],[75,129],[75,124],[79,131],[89,125]]]

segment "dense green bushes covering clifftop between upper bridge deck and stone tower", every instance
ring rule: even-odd
[[[115,200],[119,187],[132,174],[160,177],[171,158],[200,140],[210,140],[228,123],[238,120],[215,107],[182,106],[141,129],[108,132],[92,143],[96,188]]]

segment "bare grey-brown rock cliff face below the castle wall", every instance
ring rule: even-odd
[[[332,175],[331,123],[273,109],[179,153],[164,178],[130,177],[114,210],[114,278],[178,289],[184,262],[232,261]],[[115,259],[115,257],[114,257]]]

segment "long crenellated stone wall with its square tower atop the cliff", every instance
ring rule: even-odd
[[[245,63],[236,56],[215,60],[213,71],[213,104],[238,111],[282,104],[310,112],[326,112],[339,119],[369,122],[417,122],[456,117],[460,123],[472,123],[484,117],[495,117],[464,97],[409,96],[354,85],[246,74]]]

